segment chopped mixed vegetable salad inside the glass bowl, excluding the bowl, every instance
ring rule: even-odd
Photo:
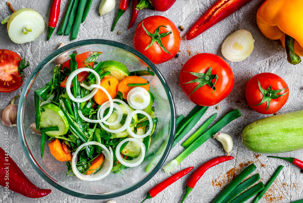
[[[102,52],[72,53],[35,91],[35,126],[67,175],[97,181],[144,160],[158,118],[149,83],[121,62],[96,62]],[[95,68],[94,68],[95,66]]]

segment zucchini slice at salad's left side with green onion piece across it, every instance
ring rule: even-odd
[[[55,137],[65,135],[69,129],[65,115],[62,110],[54,104],[48,103],[41,106],[41,119],[40,127],[58,126],[59,128],[59,131],[45,132],[48,136]]]

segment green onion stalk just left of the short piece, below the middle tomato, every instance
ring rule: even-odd
[[[181,133],[179,133],[178,137],[175,138],[174,143],[172,144],[173,148],[174,146],[176,146],[178,144],[178,142],[181,141],[181,139],[183,139],[187,133],[193,129],[193,127],[197,124],[197,122],[202,118],[202,116],[205,114],[205,112],[207,111],[208,107],[203,107],[201,108],[198,112],[196,112],[191,119],[188,120],[187,125],[185,126],[185,128],[183,128],[183,130],[181,131]]]

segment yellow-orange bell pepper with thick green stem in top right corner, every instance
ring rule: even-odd
[[[302,0],[266,0],[257,12],[261,32],[268,39],[281,40],[291,64],[300,63],[303,56],[302,8]]]

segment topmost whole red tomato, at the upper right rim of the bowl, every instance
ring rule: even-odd
[[[152,37],[148,36],[148,34],[145,32],[142,27],[142,22],[145,29],[152,34],[155,33],[159,26],[167,27],[160,27],[159,34],[171,31],[171,34],[161,38],[161,43],[171,55],[166,53],[159,46],[157,41],[155,41],[151,47],[146,49],[146,47],[151,43]],[[178,28],[170,19],[159,15],[153,15],[143,19],[139,23],[135,31],[133,43],[134,48],[145,55],[149,60],[151,60],[151,62],[154,64],[161,64],[171,60],[178,53],[181,37]]]

